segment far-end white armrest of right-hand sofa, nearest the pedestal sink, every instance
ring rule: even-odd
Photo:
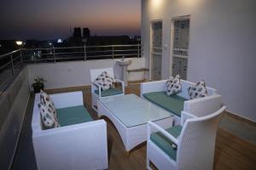
[[[150,92],[165,91],[166,90],[166,81],[167,80],[154,81],[154,82],[142,82],[141,83],[141,97],[143,97],[143,94],[147,94]]]

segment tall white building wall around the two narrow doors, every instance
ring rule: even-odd
[[[188,80],[204,79],[228,110],[256,122],[256,1],[142,0],[143,56],[148,66],[150,20],[163,20],[162,78],[170,76],[172,17],[191,15]]]

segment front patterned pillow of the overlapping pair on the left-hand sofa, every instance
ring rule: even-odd
[[[53,111],[47,105],[40,103],[38,109],[45,128],[59,127],[57,117],[54,116]]]

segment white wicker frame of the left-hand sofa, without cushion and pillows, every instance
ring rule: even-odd
[[[56,109],[84,105],[82,92],[49,96]],[[104,120],[44,129],[39,103],[40,94],[36,94],[32,112],[32,144],[38,169],[108,169],[107,123]]]

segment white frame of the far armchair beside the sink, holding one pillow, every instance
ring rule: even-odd
[[[110,77],[114,77],[113,75],[113,68],[103,68],[103,69],[91,69],[90,70],[90,81],[91,81],[91,105],[92,108],[97,111],[97,100],[101,100],[102,98],[107,98],[107,96],[102,95],[102,88],[99,84],[95,83],[94,81],[96,78],[102,74],[103,71],[107,71],[108,75]],[[119,79],[114,79],[115,82],[120,82],[121,83],[121,93],[120,94],[113,94],[113,95],[124,95],[125,94],[125,83]],[[97,93],[96,93],[97,92]]]

